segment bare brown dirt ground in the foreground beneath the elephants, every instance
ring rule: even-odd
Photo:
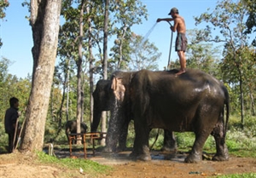
[[[63,153],[63,152],[62,152]],[[120,152],[111,156],[97,152],[88,158],[100,164],[113,167],[113,172],[98,178],[176,178],[176,177],[208,177],[214,175],[229,175],[241,173],[256,173],[255,158],[230,157],[227,162],[212,162],[203,160],[200,164],[184,164],[186,153],[167,154],[152,152],[152,161],[132,161],[128,158],[130,152]],[[58,152],[55,152],[57,155]],[[65,154],[65,152],[64,152]],[[66,155],[69,152],[66,152]],[[63,154],[62,154],[63,155]],[[83,158],[83,152],[75,157]],[[58,156],[61,158],[61,153]],[[52,164],[38,164],[34,158],[20,152],[0,155],[0,178],[90,178],[93,175],[79,173],[79,170],[70,170]]]

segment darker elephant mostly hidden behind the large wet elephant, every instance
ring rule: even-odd
[[[123,83],[125,83],[125,88],[128,88],[129,78],[134,72],[120,72],[119,75],[123,78]],[[111,111],[111,115],[115,115],[115,108],[117,107],[117,103],[115,102],[115,95],[113,94],[111,80],[99,80],[96,83],[96,89],[93,92],[93,122],[91,124],[91,132],[96,132],[97,127],[102,118],[103,111]],[[126,90],[127,92],[128,90]],[[128,95],[128,94],[126,94]],[[119,124],[115,125],[116,131],[114,137],[108,135],[111,134],[111,129],[108,130],[107,138],[106,138],[106,152],[118,152],[125,151],[126,149],[126,138],[128,133],[128,126],[131,122],[132,116],[130,111],[130,100],[124,100],[121,106],[119,107]],[[111,124],[111,123],[110,123]],[[110,127],[112,128],[112,127]],[[117,145],[119,145],[117,147]],[[162,147],[163,151],[175,151],[177,149],[177,144],[175,137],[172,131],[165,130],[164,132],[164,146]]]

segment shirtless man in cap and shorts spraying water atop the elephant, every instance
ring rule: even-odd
[[[177,51],[177,55],[179,57],[180,62],[180,70],[176,73],[176,76],[186,72],[186,57],[185,57],[185,51],[187,48],[187,37],[186,37],[186,25],[185,20],[182,16],[178,14],[178,10],[176,8],[172,8],[170,13],[172,15],[172,18],[164,18],[164,19],[158,19],[156,22],[160,21],[172,21],[174,20],[174,26],[171,26],[172,32],[177,31],[177,38],[175,43],[175,51]]]

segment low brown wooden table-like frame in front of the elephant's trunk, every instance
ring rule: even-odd
[[[84,141],[84,158],[86,158],[87,150],[86,150],[86,140],[90,140],[92,142],[92,153],[95,155],[95,140],[102,140],[106,138],[106,132],[87,132],[85,134],[69,134],[69,152],[70,157],[72,157],[72,141]]]

